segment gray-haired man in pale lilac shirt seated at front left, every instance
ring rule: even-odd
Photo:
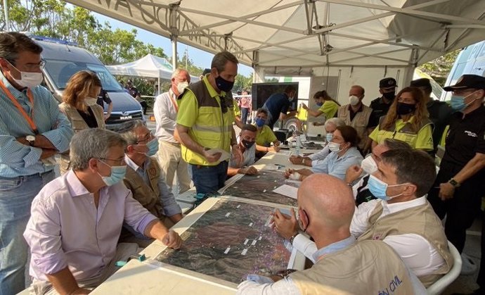
[[[117,244],[123,222],[179,249],[181,238],[148,212],[121,181],[127,142],[117,133],[82,130],[70,143],[71,168],[32,202],[24,237],[30,245],[34,294],[87,294],[138,252]]]

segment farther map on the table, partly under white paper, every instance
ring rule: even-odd
[[[244,175],[221,194],[296,207],[296,199],[273,192],[283,184],[299,187],[299,182],[286,180],[282,171],[261,170],[258,175]]]

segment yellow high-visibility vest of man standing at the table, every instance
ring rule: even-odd
[[[207,79],[207,78],[205,78]],[[210,96],[204,80],[190,84],[186,92],[193,92],[198,103],[198,117],[188,134],[200,146],[208,149],[224,149],[231,152],[231,136],[234,121],[234,106],[231,94],[226,97],[219,96],[219,101]],[[179,96],[179,99],[183,99]],[[222,113],[221,105],[226,106],[226,113]],[[181,146],[182,158],[193,165],[218,165],[219,162],[209,163],[199,153],[190,151],[186,146]]]

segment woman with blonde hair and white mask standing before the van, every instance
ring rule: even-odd
[[[89,70],[72,75],[63,92],[60,111],[70,120],[72,130],[79,132],[86,128],[105,128],[103,108],[96,103],[101,92],[101,80]],[[60,172],[69,170],[69,152],[60,155]]]

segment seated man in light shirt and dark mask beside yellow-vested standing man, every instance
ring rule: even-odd
[[[257,128],[254,125],[243,125],[239,135],[239,148],[243,153],[243,161],[238,162],[231,156],[227,176],[231,177],[236,174],[255,175],[258,170],[252,166],[256,159],[256,134]]]

